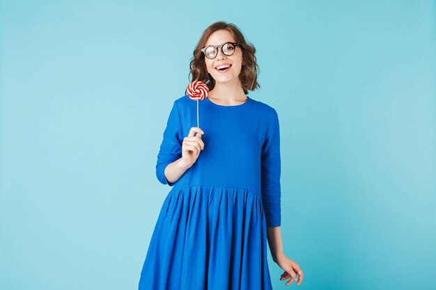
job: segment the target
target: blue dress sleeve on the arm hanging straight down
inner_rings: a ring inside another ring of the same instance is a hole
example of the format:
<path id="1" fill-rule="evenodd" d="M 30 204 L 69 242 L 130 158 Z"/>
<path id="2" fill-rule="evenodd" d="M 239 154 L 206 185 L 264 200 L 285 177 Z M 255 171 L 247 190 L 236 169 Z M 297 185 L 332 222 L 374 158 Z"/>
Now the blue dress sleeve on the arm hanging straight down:
<path id="1" fill-rule="evenodd" d="M 279 227 L 281 225 L 280 130 L 279 117 L 275 109 L 269 123 L 261 155 L 261 196 L 267 227 Z"/>

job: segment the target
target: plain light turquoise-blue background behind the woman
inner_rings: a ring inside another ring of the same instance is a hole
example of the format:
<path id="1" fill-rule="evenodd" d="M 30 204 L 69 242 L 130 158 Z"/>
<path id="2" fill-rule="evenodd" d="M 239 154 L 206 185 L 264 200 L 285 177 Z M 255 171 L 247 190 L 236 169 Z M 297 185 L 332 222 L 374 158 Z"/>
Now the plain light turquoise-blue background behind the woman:
<path id="1" fill-rule="evenodd" d="M 170 189 L 155 177 L 166 120 L 219 20 L 255 45 L 249 96 L 279 113 L 298 289 L 436 289 L 435 1 L 0 11 L 0 289 L 137 289 Z M 288 289 L 269 261 L 274 289 Z"/>

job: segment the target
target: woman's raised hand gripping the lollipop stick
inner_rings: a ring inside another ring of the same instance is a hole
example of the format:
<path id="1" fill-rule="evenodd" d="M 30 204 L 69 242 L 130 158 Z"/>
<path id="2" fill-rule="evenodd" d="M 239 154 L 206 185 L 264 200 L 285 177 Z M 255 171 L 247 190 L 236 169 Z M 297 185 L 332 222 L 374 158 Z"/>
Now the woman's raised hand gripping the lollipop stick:
<path id="1" fill-rule="evenodd" d="M 196 136 L 194 136 L 195 133 L 197 133 Z M 187 168 L 191 167 L 198 159 L 198 156 L 200 156 L 201 150 L 204 149 L 204 143 L 203 140 L 201 140 L 203 134 L 203 130 L 199 127 L 192 127 L 191 130 L 189 130 L 188 136 L 183 138 L 182 160 L 180 160 L 183 166 Z"/>

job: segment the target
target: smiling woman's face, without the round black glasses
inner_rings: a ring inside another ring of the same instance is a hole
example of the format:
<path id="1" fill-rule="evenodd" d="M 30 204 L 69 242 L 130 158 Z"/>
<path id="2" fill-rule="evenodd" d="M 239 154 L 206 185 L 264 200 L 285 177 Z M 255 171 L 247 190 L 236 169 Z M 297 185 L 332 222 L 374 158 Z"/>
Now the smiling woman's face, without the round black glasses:
<path id="1" fill-rule="evenodd" d="M 218 30 L 210 35 L 205 47 L 208 45 L 223 45 L 226 42 L 235 42 L 235 38 L 230 31 Z M 218 48 L 218 54 L 215 58 L 210 59 L 205 56 L 206 69 L 208 73 L 215 79 L 216 83 L 230 83 L 239 80 L 239 74 L 242 69 L 242 51 L 237 45 L 235 52 L 231 56 L 226 56 L 221 51 L 221 47 Z M 217 67 L 220 65 L 231 65 L 227 70 L 219 71 Z"/>

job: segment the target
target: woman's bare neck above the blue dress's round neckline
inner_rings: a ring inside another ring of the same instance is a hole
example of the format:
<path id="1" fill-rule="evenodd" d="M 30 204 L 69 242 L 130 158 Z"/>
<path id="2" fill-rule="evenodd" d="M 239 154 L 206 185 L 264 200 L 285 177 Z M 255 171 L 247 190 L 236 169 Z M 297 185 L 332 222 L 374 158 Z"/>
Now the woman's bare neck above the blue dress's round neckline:
<path id="1" fill-rule="evenodd" d="M 235 83 L 215 83 L 215 87 L 210 90 L 208 97 L 223 106 L 234 106 L 247 101 L 247 96 L 239 81 Z"/>

